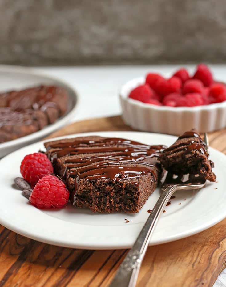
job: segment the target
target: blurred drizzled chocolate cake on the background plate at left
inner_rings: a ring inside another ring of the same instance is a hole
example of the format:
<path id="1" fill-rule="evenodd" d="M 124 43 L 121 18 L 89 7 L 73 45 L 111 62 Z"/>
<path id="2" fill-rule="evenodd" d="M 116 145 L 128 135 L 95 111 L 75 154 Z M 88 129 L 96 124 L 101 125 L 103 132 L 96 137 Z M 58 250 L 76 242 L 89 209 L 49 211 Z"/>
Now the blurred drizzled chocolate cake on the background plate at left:
<path id="1" fill-rule="evenodd" d="M 63 116 L 67 107 L 67 92 L 56 86 L 0 94 L 0 143 L 43 129 Z"/>

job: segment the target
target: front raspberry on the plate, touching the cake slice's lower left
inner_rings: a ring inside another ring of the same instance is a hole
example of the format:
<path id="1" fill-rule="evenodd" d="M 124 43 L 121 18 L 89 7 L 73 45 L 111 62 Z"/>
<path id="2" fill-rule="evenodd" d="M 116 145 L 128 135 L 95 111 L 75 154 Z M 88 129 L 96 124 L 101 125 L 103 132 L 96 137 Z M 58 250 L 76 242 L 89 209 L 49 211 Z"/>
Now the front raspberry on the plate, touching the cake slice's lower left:
<path id="1" fill-rule="evenodd" d="M 63 181 L 54 175 L 45 175 L 38 180 L 30 195 L 30 203 L 38 208 L 61 208 L 68 202 L 69 192 Z"/>

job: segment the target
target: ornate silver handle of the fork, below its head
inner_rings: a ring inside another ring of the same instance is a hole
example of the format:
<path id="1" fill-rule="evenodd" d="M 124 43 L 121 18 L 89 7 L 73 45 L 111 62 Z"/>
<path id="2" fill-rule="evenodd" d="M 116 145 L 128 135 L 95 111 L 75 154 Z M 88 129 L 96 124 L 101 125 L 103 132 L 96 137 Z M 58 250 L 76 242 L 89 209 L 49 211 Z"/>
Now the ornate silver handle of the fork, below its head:
<path id="1" fill-rule="evenodd" d="M 155 229 L 163 208 L 167 204 L 172 194 L 179 189 L 176 185 L 168 186 L 159 196 L 151 214 L 147 218 L 140 234 L 133 247 L 124 258 L 119 269 L 108 287 L 135 287 L 140 265 L 146 253 L 151 235 Z"/>

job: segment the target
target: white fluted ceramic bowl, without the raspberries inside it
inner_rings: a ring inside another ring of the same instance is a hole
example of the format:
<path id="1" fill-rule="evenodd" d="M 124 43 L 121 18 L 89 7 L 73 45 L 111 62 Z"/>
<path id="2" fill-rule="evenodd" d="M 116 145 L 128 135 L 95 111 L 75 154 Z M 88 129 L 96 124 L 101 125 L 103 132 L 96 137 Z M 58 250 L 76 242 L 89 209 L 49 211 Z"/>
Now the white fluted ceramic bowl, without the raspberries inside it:
<path id="1" fill-rule="evenodd" d="M 168 107 L 128 98 L 129 93 L 144 82 L 144 77 L 135 78 L 119 91 L 123 120 L 132 128 L 179 135 L 192 128 L 202 133 L 226 127 L 226 101 L 197 107 Z"/>

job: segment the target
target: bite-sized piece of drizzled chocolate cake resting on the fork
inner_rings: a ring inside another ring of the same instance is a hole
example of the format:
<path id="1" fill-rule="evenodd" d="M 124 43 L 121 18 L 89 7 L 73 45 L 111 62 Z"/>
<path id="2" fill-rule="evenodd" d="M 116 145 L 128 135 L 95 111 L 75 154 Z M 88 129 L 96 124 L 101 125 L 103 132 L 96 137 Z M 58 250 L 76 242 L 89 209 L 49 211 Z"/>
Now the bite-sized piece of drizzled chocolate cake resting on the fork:
<path id="1" fill-rule="evenodd" d="M 191 130 L 165 149 L 159 161 L 167 171 L 175 175 L 199 174 L 209 181 L 215 181 L 216 175 L 212 172 L 214 163 L 208 157 L 206 144 L 195 130 Z"/>

